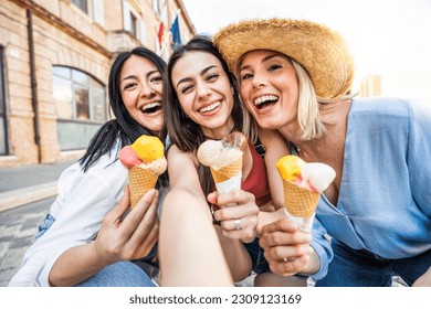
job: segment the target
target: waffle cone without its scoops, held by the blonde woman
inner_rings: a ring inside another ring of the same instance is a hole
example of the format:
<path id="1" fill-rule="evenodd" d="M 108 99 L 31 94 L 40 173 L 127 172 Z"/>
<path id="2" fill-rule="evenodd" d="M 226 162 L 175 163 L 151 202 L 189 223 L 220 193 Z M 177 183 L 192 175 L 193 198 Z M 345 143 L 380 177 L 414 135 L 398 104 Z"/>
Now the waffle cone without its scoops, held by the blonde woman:
<path id="1" fill-rule="evenodd" d="M 283 179 L 284 206 L 286 211 L 297 217 L 311 217 L 317 207 L 320 193 L 311 192 Z"/>

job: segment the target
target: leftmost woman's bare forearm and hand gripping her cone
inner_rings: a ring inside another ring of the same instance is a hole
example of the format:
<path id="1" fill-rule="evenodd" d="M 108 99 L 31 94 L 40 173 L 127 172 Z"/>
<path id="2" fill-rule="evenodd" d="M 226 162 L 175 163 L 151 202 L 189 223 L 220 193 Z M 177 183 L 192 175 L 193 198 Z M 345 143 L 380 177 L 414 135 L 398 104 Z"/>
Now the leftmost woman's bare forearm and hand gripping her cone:
<path id="1" fill-rule="evenodd" d="M 104 217 L 96 239 L 65 251 L 53 265 L 51 286 L 74 286 L 104 267 L 118 262 L 148 255 L 158 239 L 158 192 L 147 192 L 130 213 L 128 190 Z"/>

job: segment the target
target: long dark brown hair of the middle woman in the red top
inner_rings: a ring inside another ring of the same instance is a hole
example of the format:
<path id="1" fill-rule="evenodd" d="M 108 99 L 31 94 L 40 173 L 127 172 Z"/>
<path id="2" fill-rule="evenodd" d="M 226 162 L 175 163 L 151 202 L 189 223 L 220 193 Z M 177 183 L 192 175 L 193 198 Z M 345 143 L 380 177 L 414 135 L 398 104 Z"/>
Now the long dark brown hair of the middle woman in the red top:
<path id="1" fill-rule="evenodd" d="M 172 70 L 185 54 L 189 52 L 203 52 L 216 56 L 229 78 L 229 83 L 233 88 L 233 109 L 232 119 L 234 122 L 233 130 L 242 131 L 250 140 L 256 138 L 255 126 L 249 111 L 242 107 L 238 84 L 234 75 L 229 71 L 228 64 L 224 62 L 219 50 L 213 45 L 210 36 L 196 35 L 186 45 L 179 46 L 170 56 L 166 66 L 164 76 L 164 110 L 165 110 L 165 129 L 162 136 L 169 136 L 171 145 L 176 145 L 183 152 L 193 152 L 206 140 L 201 127 L 191 120 L 181 109 L 176 89 L 172 85 Z M 209 168 L 199 164 L 199 180 L 204 194 L 214 190 L 214 182 Z"/>

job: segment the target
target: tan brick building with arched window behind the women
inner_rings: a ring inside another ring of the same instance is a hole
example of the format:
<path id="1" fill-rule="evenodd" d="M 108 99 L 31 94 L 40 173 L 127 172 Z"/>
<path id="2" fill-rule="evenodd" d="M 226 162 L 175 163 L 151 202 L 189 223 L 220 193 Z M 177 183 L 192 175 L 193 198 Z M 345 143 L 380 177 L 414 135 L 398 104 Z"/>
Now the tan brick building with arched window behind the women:
<path id="1" fill-rule="evenodd" d="M 81 157 L 109 119 L 115 52 L 144 45 L 167 60 L 177 15 L 187 42 L 181 0 L 2 0 L 0 168 Z"/>

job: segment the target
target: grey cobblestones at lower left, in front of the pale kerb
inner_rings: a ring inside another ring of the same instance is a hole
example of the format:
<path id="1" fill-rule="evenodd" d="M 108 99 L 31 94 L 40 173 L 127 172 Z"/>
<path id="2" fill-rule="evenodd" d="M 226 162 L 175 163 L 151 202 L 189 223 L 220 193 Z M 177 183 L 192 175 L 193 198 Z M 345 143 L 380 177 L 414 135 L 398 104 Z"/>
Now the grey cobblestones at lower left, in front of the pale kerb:
<path id="1" fill-rule="evenodd" d="M 54 198 L 0 212 L 0 287 L 7 287 Z"/>

